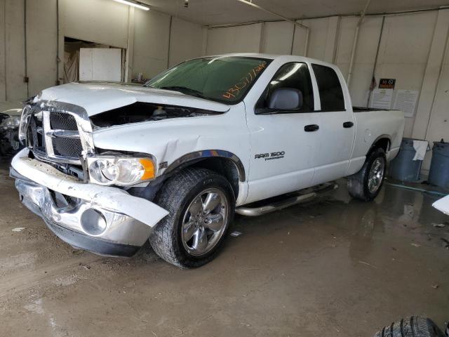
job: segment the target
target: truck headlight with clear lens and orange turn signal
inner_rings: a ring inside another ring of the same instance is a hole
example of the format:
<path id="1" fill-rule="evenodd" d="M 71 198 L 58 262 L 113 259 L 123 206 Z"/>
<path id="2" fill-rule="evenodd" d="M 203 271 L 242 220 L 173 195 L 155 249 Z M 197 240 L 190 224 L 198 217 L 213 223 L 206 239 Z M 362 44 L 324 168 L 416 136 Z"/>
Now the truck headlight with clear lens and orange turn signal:
<path id="1" fill-rule="evenodd" d="M 91 183 L 100 185 L 135 185 L 156 176 L 149 158 L 88 157 L 87 163 Z"/>

